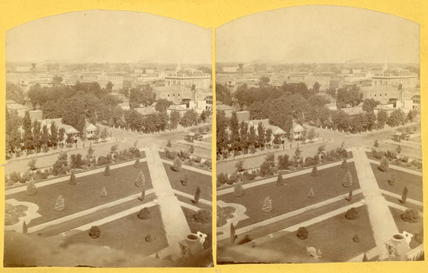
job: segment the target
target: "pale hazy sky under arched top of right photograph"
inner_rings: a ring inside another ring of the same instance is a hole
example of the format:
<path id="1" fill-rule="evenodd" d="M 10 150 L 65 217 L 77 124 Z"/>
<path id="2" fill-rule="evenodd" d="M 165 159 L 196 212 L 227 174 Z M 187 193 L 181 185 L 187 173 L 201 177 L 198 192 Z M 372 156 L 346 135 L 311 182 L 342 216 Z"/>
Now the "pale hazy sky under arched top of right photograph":
<path id="1" fill-rule="evenodd" d="M 261 12 L 216 29 L 216 61 L 419 63 L 419 24 L 337 6 Z"/>

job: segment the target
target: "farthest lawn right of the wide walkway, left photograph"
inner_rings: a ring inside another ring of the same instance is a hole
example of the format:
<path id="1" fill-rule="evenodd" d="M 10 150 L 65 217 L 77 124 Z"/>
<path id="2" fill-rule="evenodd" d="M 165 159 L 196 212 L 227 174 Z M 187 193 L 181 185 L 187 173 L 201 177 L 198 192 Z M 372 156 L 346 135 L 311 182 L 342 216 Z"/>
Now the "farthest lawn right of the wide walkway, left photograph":
<path id="1" fill-rule="evenodd" d="M 211 201 L 212 197 L 212 180 L 210 176 L 204 175 L 200 172 L 192 171 L 189 169 L 182 168 L 181 171 L 173 171 L 171 169 L 172 165 L 168 163 L 163 163 L 165 171 L 167 173 L 171 187 L 175 190 L 179 190 L 191 195 L 195 195 L 196 188 L 200 188 L 200 198 Z M 185 177 L 185 174 L 189 176 L 189 182 L 187 186 L 182 185 L 182 180 Z"/>

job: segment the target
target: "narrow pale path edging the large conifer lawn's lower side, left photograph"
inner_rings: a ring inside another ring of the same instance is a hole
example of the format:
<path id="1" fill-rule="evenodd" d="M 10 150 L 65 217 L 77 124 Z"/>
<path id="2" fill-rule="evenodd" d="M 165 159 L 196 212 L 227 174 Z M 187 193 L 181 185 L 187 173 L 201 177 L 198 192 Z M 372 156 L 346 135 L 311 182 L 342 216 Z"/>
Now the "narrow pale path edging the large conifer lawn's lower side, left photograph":
<path id="1" fill-rule="evenodd" d="M 148 195 L 152 192 L 154 192 L 154 190 L 149 189 L 146 191 L 146 195 Z M 97 206 L 97 207 L 93 207 L 93 208 L 90 208 L 87 210 L 82 210 L 82 211 L 79 211 L 79 212 L 76 212 L 76 213 L 73 213 L 73 214 L 70 214 L 70 215 L 49 221 L 49 222 L 44 222 L 43 224 L 28 228 L 28 233 L 36 232 L 36 231 L 42 230 L 42 229 L 47 228 L 47 227 L 52 226 L 52 225 L 58 225 L 58 224 L 61 224 L 65 221 L 73 220 L 73 219 L 76 219 L 78 217 L 88 215 L 90 213 L 96 212 L 96 211 L 101 210 L 101 209 L 107 209 L 107 208 L 114 207 L 114 206 L 117 206 L 119 204 L 131 201 L 131 200 L 135 200 L 140 195 L 141 195 L 141 193 L 132 194 L 130 196 L 127 196 L 127 197 L 124 197 L 124 198 L 121 198 L 121 199 L 118 199 L 118 200 L 115 200 L 115 201 L 112 201 L 112 202 L 109 202 L 106 204 L 102 204 L 102 205 Z M 27 224 L 28 224 L 28 222 L 27 222 Z"/>

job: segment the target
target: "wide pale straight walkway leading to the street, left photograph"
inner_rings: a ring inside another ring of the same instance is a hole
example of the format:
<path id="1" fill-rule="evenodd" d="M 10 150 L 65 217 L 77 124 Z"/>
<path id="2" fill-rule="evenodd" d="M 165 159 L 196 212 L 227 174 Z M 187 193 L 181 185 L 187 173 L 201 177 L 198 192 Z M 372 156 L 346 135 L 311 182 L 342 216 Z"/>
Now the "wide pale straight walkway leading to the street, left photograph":
<path id="1" fill-rule="evenodd" d="M 178 242 L 184 240 L 191 233 L 189 224 L 181 208 L 181 203 L 175 196 L 175 192 L 168 180 L 159 153 L 155 150 L 147 149 L 146 158 L 150 177 L 153 181 L 153 189 L 156 193 L 157 201 L 159 201 L 166 237 L 171 250 L 171 258 L 176 260 L 181 257 Z"/>

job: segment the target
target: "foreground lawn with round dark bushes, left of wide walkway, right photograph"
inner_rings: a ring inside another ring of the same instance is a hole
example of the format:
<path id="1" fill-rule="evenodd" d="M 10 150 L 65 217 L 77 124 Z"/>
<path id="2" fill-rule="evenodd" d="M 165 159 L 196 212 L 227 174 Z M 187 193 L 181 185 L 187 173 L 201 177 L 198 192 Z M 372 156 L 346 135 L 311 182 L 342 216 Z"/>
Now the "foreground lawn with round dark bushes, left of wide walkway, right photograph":
<path id="1" fill-rule="evenodd" d="M 346 262 L 376 246 L 367 206 L 358 207 L 356 210 L 359 217 L 355 220 L 348 220 L 345 213 L 341 213 L 306 227 L 309 232 L 306 240 L 299 239 L 295 231 L 256 247 L 283 253 L 284 260 L 277 262 L 289 262 L 286 257 L 305 259 L 308 257 L 306 247 L 309 246 L 321 250 L 320 262 Z M 356 234 L 359 242 L 352 240 Z"/>

